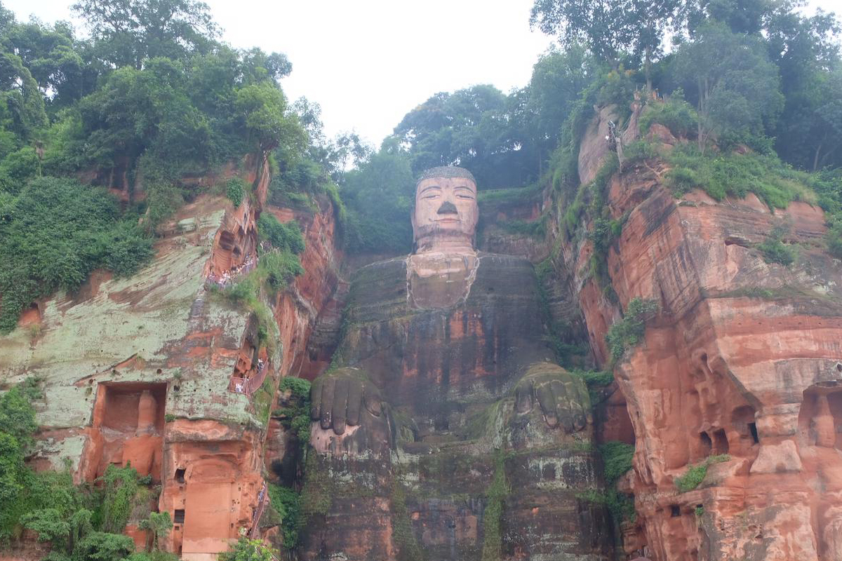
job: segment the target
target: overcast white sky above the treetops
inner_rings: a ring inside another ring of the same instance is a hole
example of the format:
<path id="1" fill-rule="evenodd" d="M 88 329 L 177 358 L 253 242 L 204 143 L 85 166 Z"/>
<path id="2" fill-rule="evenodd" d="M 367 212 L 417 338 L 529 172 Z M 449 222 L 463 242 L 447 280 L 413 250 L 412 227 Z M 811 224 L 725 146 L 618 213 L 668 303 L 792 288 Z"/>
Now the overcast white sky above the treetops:
<path id="1" fill-rule="evenodd" d="M 205 0 L 223 39 L 283 52 L 290 100 L 322 106 L 326 132 L 356 130 L 375 146 L 437 92 L 524 86 L 552 39 L 530 31 L 533 0 Z M 18 19 L 72 20 L 68 0 L 5 0 Z M 842 12 L 842 0 L 811 0 Z"/>

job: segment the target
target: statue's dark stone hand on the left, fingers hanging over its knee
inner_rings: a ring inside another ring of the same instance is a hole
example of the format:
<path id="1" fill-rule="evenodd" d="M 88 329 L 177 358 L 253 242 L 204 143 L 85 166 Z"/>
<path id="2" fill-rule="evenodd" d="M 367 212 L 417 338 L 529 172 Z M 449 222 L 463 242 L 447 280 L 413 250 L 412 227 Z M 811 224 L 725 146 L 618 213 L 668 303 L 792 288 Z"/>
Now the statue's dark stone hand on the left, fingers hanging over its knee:
<path id="1" fill-rule="evenodd" d="M 346 426 L 364 423 L 366 415 L 382 415 L 380 391 L 351 368 L 324 373 L 313 380 L 310 389 L 310 418 L 322 429 L 333 428 L 341 435 Z"/>

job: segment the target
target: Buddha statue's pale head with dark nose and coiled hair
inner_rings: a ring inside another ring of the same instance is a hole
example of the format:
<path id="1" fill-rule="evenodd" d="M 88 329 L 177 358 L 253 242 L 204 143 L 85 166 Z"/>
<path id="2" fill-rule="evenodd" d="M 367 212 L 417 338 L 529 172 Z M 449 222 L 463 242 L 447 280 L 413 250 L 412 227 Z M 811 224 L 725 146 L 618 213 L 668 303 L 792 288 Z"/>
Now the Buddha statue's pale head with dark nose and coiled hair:
<path id="1" fill-rule="evenodd" d="M 463 167 L 434 167 L 415 187 L 413 237 L 418 251 L 473 246 L 477 230 L 477 182 Z"/>

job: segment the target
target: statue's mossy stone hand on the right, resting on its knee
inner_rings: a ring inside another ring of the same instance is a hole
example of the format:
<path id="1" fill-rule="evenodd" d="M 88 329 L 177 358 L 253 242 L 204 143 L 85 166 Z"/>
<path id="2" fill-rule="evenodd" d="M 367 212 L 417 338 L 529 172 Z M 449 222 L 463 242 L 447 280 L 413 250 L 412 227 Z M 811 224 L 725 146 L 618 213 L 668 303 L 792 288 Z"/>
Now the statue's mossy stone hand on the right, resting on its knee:
<path id="1" fill-rule="evenodd" d="M 584 381 L 555 364 L 533 364 L 514 389 L 518 413 L 529 413 L 536 405 L 551 428 L 561 425 L 574 432 L 593 421 Z"/>

